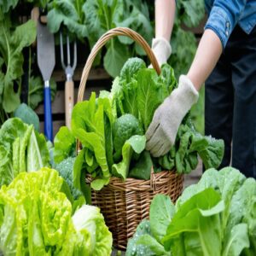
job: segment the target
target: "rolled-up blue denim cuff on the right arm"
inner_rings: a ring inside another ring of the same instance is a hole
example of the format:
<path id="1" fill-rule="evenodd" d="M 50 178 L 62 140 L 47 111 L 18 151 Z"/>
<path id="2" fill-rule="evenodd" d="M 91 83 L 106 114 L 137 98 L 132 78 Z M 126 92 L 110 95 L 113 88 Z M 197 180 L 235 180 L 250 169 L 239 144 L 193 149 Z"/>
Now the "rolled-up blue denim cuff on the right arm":
<path id="1" fill-rule="evenodd" d="M 224 49 L 230 38 L 230 34 L 233 31 L 234 25 L 224 9 L 221 9 L 218 6 L 213 6 L 205 26 L 205 29 L 207 28 L 212 29 L 212 31 L 217 34 Z"/>

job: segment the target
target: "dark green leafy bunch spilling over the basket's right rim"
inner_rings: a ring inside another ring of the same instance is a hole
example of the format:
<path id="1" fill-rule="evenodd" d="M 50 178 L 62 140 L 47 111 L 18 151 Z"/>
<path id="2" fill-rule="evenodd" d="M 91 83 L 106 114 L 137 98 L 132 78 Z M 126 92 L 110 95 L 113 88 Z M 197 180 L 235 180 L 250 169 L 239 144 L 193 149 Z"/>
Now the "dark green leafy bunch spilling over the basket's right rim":
<path id="1" fill-rule="evenodd" d="M 188 118 L 177 131 L 175 145 L 158 161 L 167 170 L 175 167 L 177 173 L 189 173 L 198 165 L 198 155 L 206 169 L 218 168 L 224 156 L 224 141 L 202 136 Z"/>

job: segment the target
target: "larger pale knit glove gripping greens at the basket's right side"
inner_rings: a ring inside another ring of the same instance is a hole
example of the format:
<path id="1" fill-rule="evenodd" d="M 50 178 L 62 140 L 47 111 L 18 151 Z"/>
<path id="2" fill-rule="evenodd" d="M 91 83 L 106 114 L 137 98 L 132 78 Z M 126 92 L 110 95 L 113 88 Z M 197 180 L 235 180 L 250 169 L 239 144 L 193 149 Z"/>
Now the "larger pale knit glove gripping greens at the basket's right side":
<path id="1" fill-rule="evenodd" d="M 177 89 L 154 112 L 146 132 L 146 149 L 154 157 L 166 154 L 175 143 L 178 126 L 198 100 L 198 91 L 185 75 L 179 78 Z"/>

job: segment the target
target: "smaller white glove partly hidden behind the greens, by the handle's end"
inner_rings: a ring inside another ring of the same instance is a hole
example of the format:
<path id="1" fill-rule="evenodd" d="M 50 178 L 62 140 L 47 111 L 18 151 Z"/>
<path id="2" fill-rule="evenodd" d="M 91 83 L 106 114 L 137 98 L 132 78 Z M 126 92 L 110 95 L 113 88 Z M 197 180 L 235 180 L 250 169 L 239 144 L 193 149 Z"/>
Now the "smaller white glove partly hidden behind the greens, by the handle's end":
<path id="1" fill-rule="evenodd" d="M 160 67 L 167 62 L 172 53 L 171 44 L 165 38 L 153 38 L 151 49 Z"/>

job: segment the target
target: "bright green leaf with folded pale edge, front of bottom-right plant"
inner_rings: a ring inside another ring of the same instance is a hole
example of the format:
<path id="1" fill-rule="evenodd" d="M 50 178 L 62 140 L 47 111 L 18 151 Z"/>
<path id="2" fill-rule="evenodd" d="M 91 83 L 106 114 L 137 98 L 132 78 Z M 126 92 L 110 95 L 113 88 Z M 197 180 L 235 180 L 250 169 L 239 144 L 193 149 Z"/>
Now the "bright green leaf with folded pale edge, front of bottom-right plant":
<path id="1" fill-rule="evenodd" d="M 219 255 L 223 211 L 224 201 L 212 188 L 192 196 L 173 216 L 163 238 L 165 248 L 174 255 Z"/>

